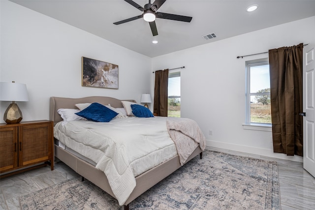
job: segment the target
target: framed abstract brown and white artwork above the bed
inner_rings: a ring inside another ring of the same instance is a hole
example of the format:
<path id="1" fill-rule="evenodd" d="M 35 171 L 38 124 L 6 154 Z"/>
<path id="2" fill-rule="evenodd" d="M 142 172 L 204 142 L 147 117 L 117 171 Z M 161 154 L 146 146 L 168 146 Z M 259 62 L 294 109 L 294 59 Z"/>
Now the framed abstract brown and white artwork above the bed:
<path id="1" fill-rule="evenodd" d="M 118 89 L 118 65 L 82 57 L 82 86 Z"/>

